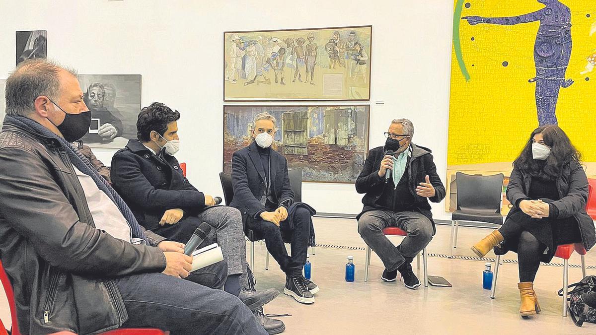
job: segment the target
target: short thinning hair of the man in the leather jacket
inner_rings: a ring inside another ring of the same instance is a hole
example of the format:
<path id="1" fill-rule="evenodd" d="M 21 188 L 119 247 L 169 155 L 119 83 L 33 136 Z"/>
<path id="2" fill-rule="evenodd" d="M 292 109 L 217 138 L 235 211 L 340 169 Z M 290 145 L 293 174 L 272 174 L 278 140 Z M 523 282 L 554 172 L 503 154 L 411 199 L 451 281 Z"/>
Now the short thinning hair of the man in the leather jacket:
<path id="1" fill-rule="evenodd" d="M 6 114 L 28 116 L 35 110 L 35 99 L 41 95 L 57 99 L 60 95 L 58 75 L 61 70 L 77 76 L 76 70 L 64 68 L 44 58 L 19 64 L 6 80 Z"/>

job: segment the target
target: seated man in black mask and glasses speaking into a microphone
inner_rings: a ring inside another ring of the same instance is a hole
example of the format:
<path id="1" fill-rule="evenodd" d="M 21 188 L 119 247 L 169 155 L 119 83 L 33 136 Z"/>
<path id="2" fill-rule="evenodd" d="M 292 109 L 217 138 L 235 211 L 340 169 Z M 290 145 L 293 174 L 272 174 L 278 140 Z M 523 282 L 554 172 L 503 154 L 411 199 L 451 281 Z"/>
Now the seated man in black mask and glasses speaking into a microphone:
<path id="1" fill-rule="evenodd" d="M 412 290 L 420 281 L 410 263 L 436 231 L 427 198 L 438 203 L 445 197 L 431 151 L 412 143 L 413 135 L 412 122 L 393 120 L 385 133 L 385 146 L 368 152 L 356 179 L 356 191 L 365 193 L 364 209 L 357 217 L 358 232 L 383 260 L 381 279 L 394 281 L 399 271 L 405 286 Z M 387 227 L 399 227 L 408 236 L 395 247 L 383 234 Z"/>

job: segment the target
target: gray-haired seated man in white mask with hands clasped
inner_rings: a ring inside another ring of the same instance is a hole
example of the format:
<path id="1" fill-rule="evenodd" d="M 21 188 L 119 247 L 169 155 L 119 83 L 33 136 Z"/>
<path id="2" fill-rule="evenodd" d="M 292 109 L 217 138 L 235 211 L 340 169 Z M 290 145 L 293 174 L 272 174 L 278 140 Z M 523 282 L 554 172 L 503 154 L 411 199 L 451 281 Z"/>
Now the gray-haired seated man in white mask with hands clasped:
<path id="1" fill-rule="evenodd" d="M 315 212 L 307 204 L 292 204 L 287 160 L 271 149 L 275 117 L 260 113 L 253 125 L 252 144 L 232 155 L 234 199 L 230 206 L 240 209 L 247 226 L 265 237 L 267 250 L 285 272 L 284 294 L 313 303 L 319 287 L 304 278 L 302 268 L 309 245 L 315 244 L 311 219 Z M 291 243 L 291 256 L 284 240 Z"/>

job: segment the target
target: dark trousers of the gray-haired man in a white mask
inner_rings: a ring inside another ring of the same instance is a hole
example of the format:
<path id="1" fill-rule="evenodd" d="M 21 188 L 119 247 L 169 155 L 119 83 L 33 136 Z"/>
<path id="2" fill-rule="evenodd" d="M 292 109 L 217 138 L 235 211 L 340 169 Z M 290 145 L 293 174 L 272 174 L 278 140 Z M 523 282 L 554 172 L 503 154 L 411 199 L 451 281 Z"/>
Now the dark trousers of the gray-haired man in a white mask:
<path id="1" fill-rule="evenodd" d="M 264 221 L 261 218 L 249 218 L 246 224 L 250 229 L 265 237 L 267 250 L 280 265 L 281 271 L 284 271 L 288 277 L 292 277 L 302 274 L 302 267 L 306 263 L 308 239 L 311 236 L 311 212 L 305 208 L 298 208 L 294 211 L 292 217 L 293 231 L 288 229 L 287 221 L 286 219 L 280 222 L 280 227 L 277 227 L 272 222 Z M 291 256 L 288 256 L 288 252 L 285 250 L 282 233 L 291 235 Z"/>

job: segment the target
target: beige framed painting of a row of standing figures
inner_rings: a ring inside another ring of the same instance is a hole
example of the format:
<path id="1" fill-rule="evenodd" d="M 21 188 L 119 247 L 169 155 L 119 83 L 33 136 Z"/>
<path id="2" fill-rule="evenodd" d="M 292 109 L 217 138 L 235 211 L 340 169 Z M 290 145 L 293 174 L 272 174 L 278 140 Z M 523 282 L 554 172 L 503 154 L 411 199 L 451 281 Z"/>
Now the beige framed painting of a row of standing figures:
<path id="1" fill-rule="evenodd" d="M 224 101 L 370 100 L 373 26 L 224 32 Z"/>

